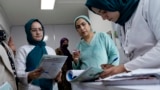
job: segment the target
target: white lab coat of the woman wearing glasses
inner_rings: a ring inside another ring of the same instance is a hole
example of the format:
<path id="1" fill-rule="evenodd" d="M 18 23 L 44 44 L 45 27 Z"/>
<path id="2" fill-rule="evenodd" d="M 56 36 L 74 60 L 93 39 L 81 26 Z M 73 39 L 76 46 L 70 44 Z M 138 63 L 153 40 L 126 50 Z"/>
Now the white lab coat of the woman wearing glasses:
<path id="1" fill-rule="evenodd" d="M 29 72 L 25 72 L 25 70 L 26 70 L 26 57 L 27 57 L 28 53 L 34 47 L 35 47 L 34 45 L 24 45 L 24 46 L 20 47 L 16 53 L 16 59 L 15 59 L 16 63 L 15 64 L 16 64 L 17 75 L 20 80 L 19 90 L 41 90 L 40 87 L 34 86 L 34 85 L 28 83 L 27 80 L 28 80 L 28 73 Z M 46 46 L 46 50 L 49 55 L 56 55 L 55 51 L 51 47 Z M 53 82 L 53 86 L 56 86 L 55 84 L 56 83 Z M 55 87 L 53 87 L 53 88 L 55 88 Z"/>

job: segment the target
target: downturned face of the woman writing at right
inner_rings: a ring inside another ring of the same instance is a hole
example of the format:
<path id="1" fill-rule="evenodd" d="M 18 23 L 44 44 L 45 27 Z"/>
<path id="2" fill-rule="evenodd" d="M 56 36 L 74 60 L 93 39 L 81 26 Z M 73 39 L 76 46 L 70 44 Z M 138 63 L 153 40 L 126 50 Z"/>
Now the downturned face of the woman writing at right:
<path id="1" fill-rule="evenodd" d="M 106 11 L 106 10 L 101 10 L 101 9 L 98 9 L 98 8 L 94 8 L 92 7 L 92 10 L 100 15 L 102 17 L 103 20 L 109 20 L 109 21 L 112 21 L 112 22 L 116 22 L 120 16 L 120 13 L 119 11 L 115 11 L 115 12 L 110 12 L 110 11 Z"/>

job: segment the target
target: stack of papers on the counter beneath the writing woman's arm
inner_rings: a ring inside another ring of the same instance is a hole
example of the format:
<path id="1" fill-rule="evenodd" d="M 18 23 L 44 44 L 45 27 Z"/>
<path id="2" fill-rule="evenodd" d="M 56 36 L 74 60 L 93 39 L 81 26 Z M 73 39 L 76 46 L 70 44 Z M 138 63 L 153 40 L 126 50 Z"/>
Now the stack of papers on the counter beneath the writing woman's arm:
<path id="1" fill-rule="evenodd" d="M 137 69 L 128 73 L 116 74 L 100 81 L 108 86 L 160 84 L 160 69 Z"/>

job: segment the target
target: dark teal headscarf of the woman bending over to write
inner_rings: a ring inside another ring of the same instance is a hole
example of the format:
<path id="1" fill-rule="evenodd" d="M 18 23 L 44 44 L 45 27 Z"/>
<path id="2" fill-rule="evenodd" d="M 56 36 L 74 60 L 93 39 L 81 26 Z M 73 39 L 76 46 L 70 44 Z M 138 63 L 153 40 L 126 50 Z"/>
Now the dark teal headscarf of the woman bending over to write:
<path id="1" fill-rule="evenodd" d="M 92 7 L 111 12 L 119 11 L 120 17 L 116 23 L 124 25 L 136 10 L 138 3 L 139 0 L 87 0 L 86 6 L 92 12 Z"/>

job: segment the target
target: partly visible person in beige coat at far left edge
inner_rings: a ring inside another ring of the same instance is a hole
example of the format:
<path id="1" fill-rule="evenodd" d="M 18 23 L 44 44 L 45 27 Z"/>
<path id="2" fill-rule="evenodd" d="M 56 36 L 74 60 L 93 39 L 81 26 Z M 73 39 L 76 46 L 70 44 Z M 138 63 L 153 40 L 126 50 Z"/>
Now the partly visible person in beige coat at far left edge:
<path id="1" fill-rule="evenodd" d="M 5 42 L 6 38 L 5 31 L 0 30 L 0 86 L 8 83 L 11 85 L 13 90 L 17 90 L 17 75 L 15 71 L 14 55 L 10 47 Z"/>

